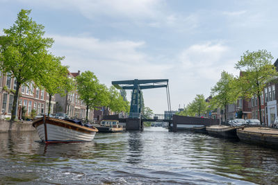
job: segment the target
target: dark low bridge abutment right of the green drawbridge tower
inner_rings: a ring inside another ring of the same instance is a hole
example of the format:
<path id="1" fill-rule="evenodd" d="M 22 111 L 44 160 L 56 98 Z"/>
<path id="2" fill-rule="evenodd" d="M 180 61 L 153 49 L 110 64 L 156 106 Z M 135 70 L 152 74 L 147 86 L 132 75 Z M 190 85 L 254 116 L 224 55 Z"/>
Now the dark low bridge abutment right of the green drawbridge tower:
<path id="1" fill-rule="evenodd" d="M 170 131 L 177 132 L 181 130 L 192 130 L 193 127 L 204 127 L 219 124 L 219 119 L 173 115 L 173 123 L 170 124 Z"/>

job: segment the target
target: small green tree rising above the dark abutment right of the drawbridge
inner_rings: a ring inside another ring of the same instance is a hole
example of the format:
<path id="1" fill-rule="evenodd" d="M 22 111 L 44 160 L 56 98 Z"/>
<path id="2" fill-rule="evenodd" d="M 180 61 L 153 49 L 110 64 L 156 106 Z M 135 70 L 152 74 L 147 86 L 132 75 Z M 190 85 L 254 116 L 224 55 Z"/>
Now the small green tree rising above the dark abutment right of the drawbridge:
<path id="1" fill-rule="evenodd" d="M 206 112 L 206 100 L 204 98 L 203 94 L 197 94 L 195 99 L 192 103 L 189 103 L 188 105 L 188 112 L 190 116 L 194 116 L 193 114 L 197 114 L 198 116 L 201 116 L 201 114 L 204 114 Z"/>

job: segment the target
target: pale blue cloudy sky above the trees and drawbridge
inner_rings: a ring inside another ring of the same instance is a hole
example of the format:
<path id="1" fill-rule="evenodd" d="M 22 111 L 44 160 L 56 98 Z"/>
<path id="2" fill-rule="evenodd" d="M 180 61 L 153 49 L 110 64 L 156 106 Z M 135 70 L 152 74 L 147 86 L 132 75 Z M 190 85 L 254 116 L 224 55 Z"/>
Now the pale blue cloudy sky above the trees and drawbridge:
<path id="1" fill-rule="evenodd" d="M 92 71 L 101 83 L 169 79 L 172 110 L 207 98 L 222 71 L 245 51 L 278 57 L 278 1 L 0 0 L 0 35 L 21 9 L 44 25 L 50 49 L 71 72 Z M 130 92 L 127 91 L 130 95 Z M 167 110 L 166 90 L 143 90 L 145 106 Z M 130 98 L 130 96 L 128 97 Z"/>

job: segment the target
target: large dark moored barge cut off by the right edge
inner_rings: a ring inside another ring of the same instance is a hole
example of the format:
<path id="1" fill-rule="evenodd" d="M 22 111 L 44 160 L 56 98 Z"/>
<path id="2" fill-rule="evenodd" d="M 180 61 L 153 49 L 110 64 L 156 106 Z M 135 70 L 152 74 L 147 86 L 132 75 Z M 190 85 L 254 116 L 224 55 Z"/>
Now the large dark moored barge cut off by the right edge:
<path id="1" fill-rule="evenodd" d="M 237 130 L 240 141 L 278 149 L 278 130 L 269 127 L 244 127 Z"/>

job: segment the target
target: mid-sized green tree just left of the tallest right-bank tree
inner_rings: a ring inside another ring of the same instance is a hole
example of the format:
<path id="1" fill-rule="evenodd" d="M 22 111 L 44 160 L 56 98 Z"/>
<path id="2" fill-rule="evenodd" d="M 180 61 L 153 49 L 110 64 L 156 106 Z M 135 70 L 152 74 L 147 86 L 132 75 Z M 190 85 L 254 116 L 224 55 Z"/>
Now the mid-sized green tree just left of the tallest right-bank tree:
<path id="1" fill-rule="evenodd" d="M 237 90 L 234 86 L 234 76 L 226 71 L 222 71 L 220 80 L 211 88 L 211 95 L 213 98 L 210 104 L 213 107 L 220 107 L 220 109 L 224 108 L 225 121 L 227 119 L 227 105 L 229 103 L 234 103 L 238 97 L 238 94 L 234 94 Z"/>

